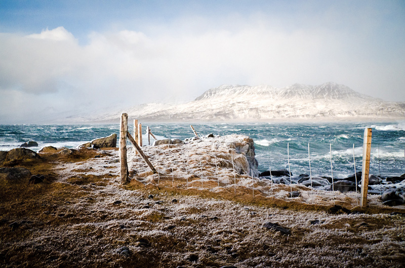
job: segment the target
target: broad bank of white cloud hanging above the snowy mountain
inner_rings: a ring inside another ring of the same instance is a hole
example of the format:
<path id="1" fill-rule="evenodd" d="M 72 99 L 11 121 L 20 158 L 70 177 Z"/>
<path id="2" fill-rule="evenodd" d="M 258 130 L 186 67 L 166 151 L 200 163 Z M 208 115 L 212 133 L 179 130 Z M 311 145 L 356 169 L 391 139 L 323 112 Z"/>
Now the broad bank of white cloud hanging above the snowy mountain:
<path id="1" fill-rule="evenodd" d="M 286 86 L 335 81 L 390 99 L 379 93 L 387 82 L 387 87 L 396 86 L 391 99 L 405 100 L 398 91 L 405 82 L 399 74 L 404 55 L 377 62 L 363 53 L 363 40 L 347 32 L 321 25 L 285 30 L 261 16 L 197 21 L 183 18 L 152 25 L 149 32 L 93 32 L 85 45 L 64 27 L 26 36 L 2 33 L 0 92 L 10 99 L 8 111 L 22 105 L 13 105 L 11 99 L 28 101 L 27 96 L 42 97 L 47 107 L 58 99 L 56 110 L 72 103 L 91 109 L 190 100 L 224 83 Z"/>

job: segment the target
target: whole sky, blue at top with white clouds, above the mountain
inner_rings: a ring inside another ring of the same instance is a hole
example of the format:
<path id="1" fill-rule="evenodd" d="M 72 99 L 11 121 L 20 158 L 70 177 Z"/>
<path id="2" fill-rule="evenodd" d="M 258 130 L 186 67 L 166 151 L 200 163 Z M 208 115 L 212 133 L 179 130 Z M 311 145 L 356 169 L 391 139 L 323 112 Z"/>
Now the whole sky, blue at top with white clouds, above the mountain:
<path id="1" fill-rule="evenodd" d="M 344 84 L 405 101 L 405 1 L 0 0 L 0 123 L 222 84 Z"/>

